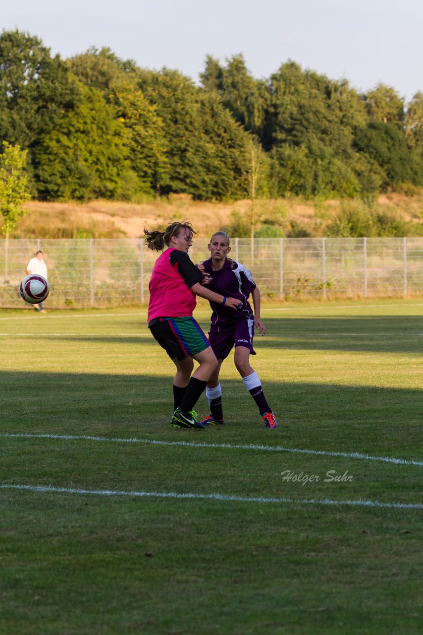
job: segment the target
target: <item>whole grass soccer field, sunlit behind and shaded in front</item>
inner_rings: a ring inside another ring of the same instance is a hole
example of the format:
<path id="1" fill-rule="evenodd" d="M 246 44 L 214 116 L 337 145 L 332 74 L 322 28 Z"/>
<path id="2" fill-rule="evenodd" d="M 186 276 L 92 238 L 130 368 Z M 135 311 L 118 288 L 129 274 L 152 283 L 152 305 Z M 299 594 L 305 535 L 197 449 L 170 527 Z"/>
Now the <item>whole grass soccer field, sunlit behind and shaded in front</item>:
<path id="1" fill-rule="evenodd" d="M 422 632 L 422 309 L 264 305 L 276 431 L 232 359 L 172 429 L 145 308 L 3 311 L 1 635 Z"/>

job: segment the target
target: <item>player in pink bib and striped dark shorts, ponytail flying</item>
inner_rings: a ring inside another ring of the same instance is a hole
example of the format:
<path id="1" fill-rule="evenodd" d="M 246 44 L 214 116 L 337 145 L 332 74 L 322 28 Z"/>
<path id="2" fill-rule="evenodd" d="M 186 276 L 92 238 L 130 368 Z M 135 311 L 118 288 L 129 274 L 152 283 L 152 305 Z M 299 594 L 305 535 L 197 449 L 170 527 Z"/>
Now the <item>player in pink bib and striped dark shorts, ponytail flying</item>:
<path id="1" fill-rule="evenodd" d="M 193 410 L 218 361 L 200 326 L 192 316 L 195 296 L 223 304 L 233 311 L 240 304 L 235 298 L 214 293 L 203 284 L 208 276 L 199 271 L 188 256 L 195 234 L 190 223 L 174 222 L 164 232 L 144 230 L 149 249 L 162 251 L 150 279 L 148 328 L 176 366 L 173 380 L 176 428 L 204 428 Z M 191 376 L 193 359 L 200 364 Z"/>

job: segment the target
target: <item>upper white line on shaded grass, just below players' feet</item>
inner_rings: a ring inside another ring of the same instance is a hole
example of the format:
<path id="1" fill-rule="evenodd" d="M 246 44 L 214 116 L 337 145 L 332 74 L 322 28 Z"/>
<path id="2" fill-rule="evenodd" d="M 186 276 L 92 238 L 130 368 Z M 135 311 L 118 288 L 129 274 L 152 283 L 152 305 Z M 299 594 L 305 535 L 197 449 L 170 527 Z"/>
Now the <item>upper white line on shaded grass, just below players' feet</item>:
<path id="1" fill-rule="evenodd" d="M 295 454 L 310 454 L 320 457 L 359 458 L 367 461 L 382 461 L 395 465 L 419 465 L 423 467 L 423 461 L 407 460 L 405 458 L 374 457 L 360 452 L 330 452 L 327 450 L 299 450 L 297 448 L 284 448 L 280 445 L 231 445 L 230 443 L 195 443 L 194 441 L 157 441 L 155 439 L 119 439 L 98 436 L 85 436 L 73 434 L 30 434 L 26 432 L 1 432 L 0 437 L 22 439 L 56 439 L 63 441 L 100 441 L 109 443 L 144 443 L 148 445 L 184 446 L 186 448 L 211 448 L 222 450 L 258 450 L 263 452 L 290 452 Z"/>

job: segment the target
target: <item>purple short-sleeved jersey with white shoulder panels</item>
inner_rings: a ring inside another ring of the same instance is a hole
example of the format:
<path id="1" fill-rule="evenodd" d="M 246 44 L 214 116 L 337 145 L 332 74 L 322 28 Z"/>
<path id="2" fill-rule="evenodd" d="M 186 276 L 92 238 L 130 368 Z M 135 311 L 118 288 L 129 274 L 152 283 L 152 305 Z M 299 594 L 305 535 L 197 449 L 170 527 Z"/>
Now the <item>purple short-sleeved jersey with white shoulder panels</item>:
<path id="1" fill-rule="evenodd" d="M 215 293 L 221 293 L 228 298 L 238 298 L 242 302 L 242 307 L 234 311 L 224 304 L 211 302 L 212 324 L 221 324 L 242 318 L 253 318 L 251 306 L 248 302 L 249 295 L 256 288 L 256 283 L 252 279 L 251 273 L 240 262 L 226 259 L 225 264 L 219 271 L 214 271 L 211 265 L 211 258 L 203 262 L 204 270 L 210 275 L 210 283 L 207 288 Z"/>

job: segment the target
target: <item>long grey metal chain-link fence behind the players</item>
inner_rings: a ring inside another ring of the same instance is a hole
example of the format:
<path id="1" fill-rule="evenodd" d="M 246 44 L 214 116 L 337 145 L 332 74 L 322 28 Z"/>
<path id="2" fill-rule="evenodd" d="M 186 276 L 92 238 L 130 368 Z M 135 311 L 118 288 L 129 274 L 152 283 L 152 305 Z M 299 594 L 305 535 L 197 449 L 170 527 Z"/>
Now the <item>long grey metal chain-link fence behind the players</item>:
<path id="1" fill-rule="evenodd" d="M 209 257 L 195 239 L 193 262 Z M 0 307 L 22 307 L 18 287 L 41 249 L 49 307 L 106 307 L 148 302 L 157 252 L 142 239 L 0 241 Z M 281 298 L 423 295 L 423 238 L 235 238 L 240 260 L 262 296 Z"/>

